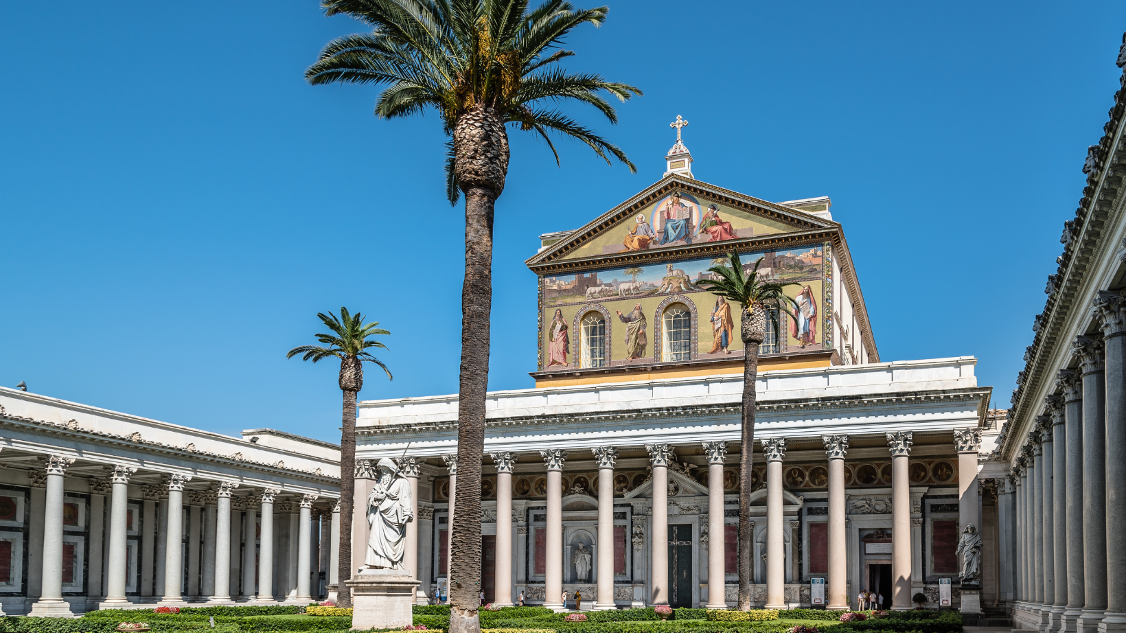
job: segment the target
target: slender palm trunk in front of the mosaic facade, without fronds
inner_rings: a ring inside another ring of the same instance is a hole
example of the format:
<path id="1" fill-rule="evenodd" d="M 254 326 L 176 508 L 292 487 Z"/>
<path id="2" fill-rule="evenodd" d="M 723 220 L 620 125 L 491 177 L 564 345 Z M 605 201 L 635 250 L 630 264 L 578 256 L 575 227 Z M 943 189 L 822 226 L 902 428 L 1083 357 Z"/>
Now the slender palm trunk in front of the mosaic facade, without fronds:
<path id="1" fill-rule="evenodd" d="M 754 389 L 759 374 L 759 345 L 766 338 L 766 311 L 761 304 L 743 306 L 740 335 L 743 339 L 743 419 L 739 447 L 739 610 L 751 609 L 751 475 L 754 455 Z"/>

